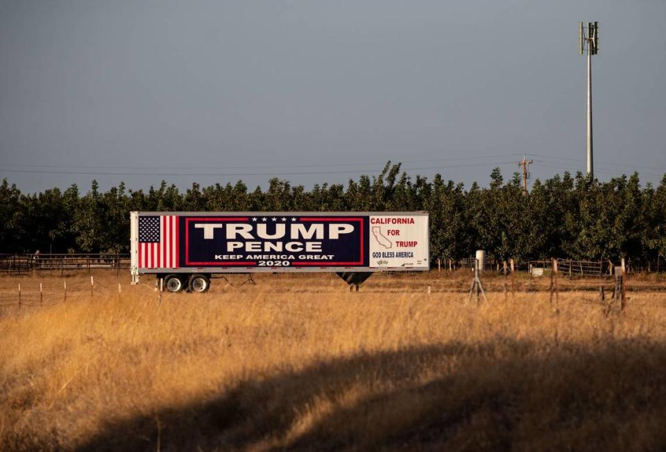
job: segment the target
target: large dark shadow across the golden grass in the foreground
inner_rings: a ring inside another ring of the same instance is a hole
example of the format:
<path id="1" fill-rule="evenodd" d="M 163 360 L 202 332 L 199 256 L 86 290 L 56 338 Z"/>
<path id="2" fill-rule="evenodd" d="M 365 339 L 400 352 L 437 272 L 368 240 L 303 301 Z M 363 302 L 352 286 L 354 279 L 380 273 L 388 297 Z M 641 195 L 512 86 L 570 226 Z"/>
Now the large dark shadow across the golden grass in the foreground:
<path id="1" fill-rule="evenodd" d="M 80 450 L 664 450 L 665 371 L 650 342 L 360 354 L 109 422 Z"/>

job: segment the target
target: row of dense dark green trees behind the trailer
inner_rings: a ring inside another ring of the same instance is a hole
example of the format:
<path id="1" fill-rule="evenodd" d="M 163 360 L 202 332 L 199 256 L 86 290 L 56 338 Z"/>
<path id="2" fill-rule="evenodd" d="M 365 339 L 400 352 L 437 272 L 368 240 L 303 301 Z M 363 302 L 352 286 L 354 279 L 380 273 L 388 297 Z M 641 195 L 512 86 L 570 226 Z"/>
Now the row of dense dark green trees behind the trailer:
<path id="1" fill-rule="evenodd" d="M 613 259 L 636 263 L 666 257 L 666 175 L 659 186 L 640 186 L 637 173 L 599 182 L 582 173 L 541 182 L 524 192 L 518 173 L 504 182 L 495 168 L 490 184 L 411 178 L 388 162 L 376 177 L 311 190 L 273 178 L 266 190 L 246 184 L 167 182 L 148 191 L 125 184 L 82 194 L 21 193 L 0 186 L 0 252 L 128 252 L 130 211 L 412 211 L 430 212 L 432 259 L 459 259 L 483 249 L 497 259 Z"/>

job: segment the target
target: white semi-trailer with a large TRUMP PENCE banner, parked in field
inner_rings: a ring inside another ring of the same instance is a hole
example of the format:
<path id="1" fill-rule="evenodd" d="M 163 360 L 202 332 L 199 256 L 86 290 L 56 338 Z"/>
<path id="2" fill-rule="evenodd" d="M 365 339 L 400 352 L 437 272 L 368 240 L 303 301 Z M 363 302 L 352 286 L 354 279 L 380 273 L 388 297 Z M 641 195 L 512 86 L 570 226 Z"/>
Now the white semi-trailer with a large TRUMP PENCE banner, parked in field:
<path id="1" fill-rule="evenodd" d="M 132 284 L 202 293 L 228 273 L 335 272 L 358 288 L 373 272 L 427 271 L 427 211 L 130 213 Z"/>

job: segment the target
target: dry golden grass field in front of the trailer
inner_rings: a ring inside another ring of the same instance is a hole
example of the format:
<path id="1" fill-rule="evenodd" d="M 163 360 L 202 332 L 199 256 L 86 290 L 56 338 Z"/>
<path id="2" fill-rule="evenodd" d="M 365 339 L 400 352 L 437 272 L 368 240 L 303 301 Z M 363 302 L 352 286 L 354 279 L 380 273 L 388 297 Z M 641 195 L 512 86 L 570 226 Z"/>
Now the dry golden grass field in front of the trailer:
<path id="1" fill-rule="evenodd" d="M 216 279 L 161 303 L 149 278 L 66 279 L 66 300 L 55 276 L 0 279 L 25 300 L 0 307 L 0 450 L 666 449 L 659 277 L 622 313 L 590 281 L 551 302 L 547 278 L 488 277 L 466 304 L 468 272 Z"/>

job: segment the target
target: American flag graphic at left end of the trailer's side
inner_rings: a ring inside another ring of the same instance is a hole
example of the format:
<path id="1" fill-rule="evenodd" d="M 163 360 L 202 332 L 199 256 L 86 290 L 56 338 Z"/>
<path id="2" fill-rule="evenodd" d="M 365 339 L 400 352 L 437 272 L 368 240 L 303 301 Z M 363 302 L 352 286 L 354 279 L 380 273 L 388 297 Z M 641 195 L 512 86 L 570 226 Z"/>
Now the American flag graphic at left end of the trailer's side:
<path id="1" fill-rule="evenodd" d="M 178 266 L 178 216 L 139 216 L 139 267 Z"/>

